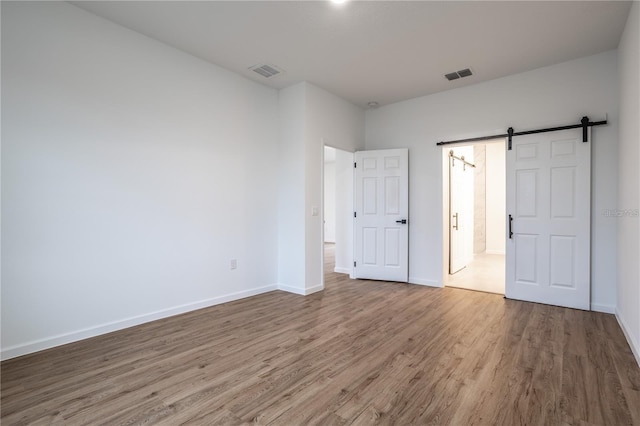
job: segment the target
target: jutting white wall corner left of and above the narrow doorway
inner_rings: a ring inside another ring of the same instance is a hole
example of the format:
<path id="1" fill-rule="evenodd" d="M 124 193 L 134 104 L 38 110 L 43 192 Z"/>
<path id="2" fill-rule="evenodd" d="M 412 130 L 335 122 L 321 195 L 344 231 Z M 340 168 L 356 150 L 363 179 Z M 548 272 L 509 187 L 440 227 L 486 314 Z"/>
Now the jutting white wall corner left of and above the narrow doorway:
<path id="1" fill-rule="evenodd" d="M 291 190 L 280 192 L 281 209 L 290 211 L 286 218 L 284 213 L 280 215 L 279 283 L 284 290 L 310 294 L 324 288 L 323 215 L 313 214 L 323 205 L 322 151 L 325 145 L 346 151 L 363 147 L 364 111 L 304 82 L 281 91 L 280 116 L 284 132 L 281 155 L 286 155 L 281 183 Z M 293 226 L 288 225 L 287 218 Z M 302 228 L 300 223 L 304 224 Z"/>

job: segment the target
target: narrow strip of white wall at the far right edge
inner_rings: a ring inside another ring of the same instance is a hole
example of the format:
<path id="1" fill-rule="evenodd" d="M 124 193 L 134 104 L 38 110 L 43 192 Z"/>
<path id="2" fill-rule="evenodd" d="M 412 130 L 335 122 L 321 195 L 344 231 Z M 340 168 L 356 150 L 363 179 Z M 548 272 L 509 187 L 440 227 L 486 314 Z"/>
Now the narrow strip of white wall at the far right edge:
<path id="1" fill-rule="evenodd" d="M 634 2 L 618 47 L 620 70 L 620 148 L 618 203 L 620 211 L 640 209 L 640 4 Z M 614 169 L 615 170 L 615 169 Z M 618 229 L 617 317 L 640 364 L 640 219 L 613 218 Z"/>

